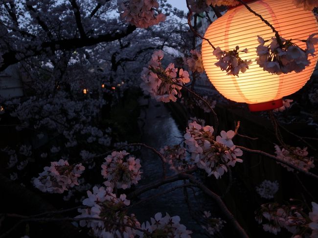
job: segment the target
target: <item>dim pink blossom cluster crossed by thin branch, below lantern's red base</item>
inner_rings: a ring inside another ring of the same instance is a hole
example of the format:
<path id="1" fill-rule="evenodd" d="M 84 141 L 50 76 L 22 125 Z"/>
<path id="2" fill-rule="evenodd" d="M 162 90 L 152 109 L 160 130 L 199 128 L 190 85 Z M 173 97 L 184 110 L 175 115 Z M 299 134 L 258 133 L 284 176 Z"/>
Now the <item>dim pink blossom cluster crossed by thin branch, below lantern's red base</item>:
<path id="1" fill-rule="evenodd" d="M 304 171 L 309 171 L 314 168 L 314 160 L 312 157 L 307 157 L 308 151 L 307 147 L 300 149 L 299 147 L 291 147 L 289 149 L 280 149 L 278 145 L 275 145 L 275 153 L 277 158 L 282 159 L 292 165 L 297 166 L 299 169 Z M 281 164 L 288 171 L 294 171 L 294 169 L 288 167 L 287 165 Z"/>

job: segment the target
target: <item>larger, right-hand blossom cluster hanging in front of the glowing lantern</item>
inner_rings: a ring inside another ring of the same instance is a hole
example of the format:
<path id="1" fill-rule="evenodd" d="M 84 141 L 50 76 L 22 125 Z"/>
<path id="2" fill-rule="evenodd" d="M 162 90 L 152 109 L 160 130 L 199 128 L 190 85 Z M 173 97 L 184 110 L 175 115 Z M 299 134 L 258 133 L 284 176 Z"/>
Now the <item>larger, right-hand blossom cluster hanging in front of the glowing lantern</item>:
<path id="1" fill-rule="evenodd" d="M 262 37 L 257 36 L 260 45 L 256 47 L 258 56 L 256 62 L 264 71 L 273 74 L 286 74 L 293 71 L 299 73 L 310 64 L 308 56 L 314 56 L 314 45 L 318 43 L 318 38 L 315 38 L 315 35 L 317 33 L 310 35 L 306 41 L 303 41 L 307 45 L 304 50 L 293 43 L 292 40 L 280 38 L 279 43 L 275 37 L 266 46 L 265 43 L 269 42 L 269 40 L 265 41 Z"/>

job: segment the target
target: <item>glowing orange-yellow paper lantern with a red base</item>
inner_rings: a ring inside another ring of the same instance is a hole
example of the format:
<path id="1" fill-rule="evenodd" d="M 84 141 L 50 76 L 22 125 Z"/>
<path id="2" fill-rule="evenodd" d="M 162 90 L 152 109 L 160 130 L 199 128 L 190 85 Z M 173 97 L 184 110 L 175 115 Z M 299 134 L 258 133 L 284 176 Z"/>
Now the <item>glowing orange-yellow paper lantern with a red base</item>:
<path id="1" fill-rule="evenodd" d="M 309 35 L 318 32 L 318 22 L 311 11 L 296 8 L 291 0 L 258 0 L 248 3 L 251 9 L 270 22 L 284 39 L 307 40 Z M 308 56 L 311 64 L 300 73 L 271 74 L 257 65 L 257 35 L 270 40 L 274 33 L 269 26 L 240 5 L 227 11 L 213 22 L 204 37 L 222 50 L 248 48 L 248 53 L 240 53 L 242 60 L 252 60 L 249 69 L 239 77 L 227 75 L 226 71 L 214 64 L 218 61 L 213 55 L 213 48 L 207 41 L 202 43 L 202 60 L 205 72 L 226 98 L 240 103 L 248 103 L 251 111 L 268 110 L 282 106 L 282 97 L 290 95 L 303 87 L 310 79 L 316 63 L 315 57 Z M 305 49 L 306 43 L 293 41 Z M 318 50 L 318 45 L 315 48 Z"/>

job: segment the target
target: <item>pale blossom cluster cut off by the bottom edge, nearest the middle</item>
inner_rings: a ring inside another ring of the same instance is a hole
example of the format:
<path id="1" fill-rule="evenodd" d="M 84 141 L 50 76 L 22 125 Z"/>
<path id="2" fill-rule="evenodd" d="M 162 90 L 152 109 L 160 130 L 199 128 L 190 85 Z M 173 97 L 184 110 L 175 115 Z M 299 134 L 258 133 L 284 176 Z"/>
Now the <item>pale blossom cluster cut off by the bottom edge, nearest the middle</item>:
<path id="1" fill-rule="evenodd" d="M 151 233 L 151 237 L 190 238 L 192 233 L 180 224 L 179 216 L 170 216 L 168 213 L 166 216 L 157 213 L 154 218 L 150 218 L 150 222 L 142 223 L 141 229 Z M 142 231 L 136 231 L 136 235 L 140 238 L 147 237 Z"/>

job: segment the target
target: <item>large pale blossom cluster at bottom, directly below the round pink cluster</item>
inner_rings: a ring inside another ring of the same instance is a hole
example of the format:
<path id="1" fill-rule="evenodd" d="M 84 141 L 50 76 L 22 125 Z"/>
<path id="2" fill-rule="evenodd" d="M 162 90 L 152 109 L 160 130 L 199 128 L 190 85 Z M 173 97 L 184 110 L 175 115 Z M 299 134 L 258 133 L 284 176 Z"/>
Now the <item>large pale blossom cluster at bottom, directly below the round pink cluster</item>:
<path id="1" fill-rule="evenodd" d="M 112 192 L 111 187 L 96 186 L 93 187 L 92 192 L 87 191 L 88 197 L 83 200 L 83 205 L 88 208 L 78 209 L 81 215 L 75 218 L 100 218 L 100 220 L 83 219 L 79 222 L 80 226 L 91 228 L 95 237 L 134 237 L 135 231 L 130 226 L 140 227 L 140 223 L 134 214 L 126 215 L 125 208 L 129 206 L 130 200 L 126 199 L 125 194 L 116 197 Z"/>

